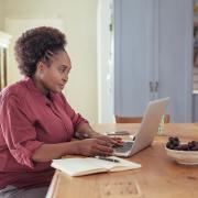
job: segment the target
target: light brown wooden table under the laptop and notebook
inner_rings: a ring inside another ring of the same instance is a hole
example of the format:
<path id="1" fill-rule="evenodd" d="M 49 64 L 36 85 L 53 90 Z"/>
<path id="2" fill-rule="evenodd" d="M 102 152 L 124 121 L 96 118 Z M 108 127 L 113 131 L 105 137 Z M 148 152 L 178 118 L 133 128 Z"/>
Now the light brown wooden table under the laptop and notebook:
<path id="1" fill-rule="evenodd" d="M 99 132 L 130 130 L 139 124 L 103 124 Z M 182 141 L 198 141 L 198 124 L 165 124 L 164 134 L 153 145 L 130 157 L 142 164 L 139 169 L 69 177 L 56 170 L 48 196 L 51 198 L 197 198 L 198 165 L 179 165 L 166 156 L 164 145 L 169 135 Z"/>

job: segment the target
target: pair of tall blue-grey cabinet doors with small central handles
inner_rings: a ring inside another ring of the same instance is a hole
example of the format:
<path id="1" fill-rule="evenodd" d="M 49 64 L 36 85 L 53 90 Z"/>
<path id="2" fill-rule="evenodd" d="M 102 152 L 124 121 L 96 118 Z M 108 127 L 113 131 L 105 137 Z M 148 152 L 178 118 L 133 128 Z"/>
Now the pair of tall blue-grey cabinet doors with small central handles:
<path id="1" fill-rule="evenodd" d="M 116 114 L 170 97 L 170 120 L 191 121 L 191 0 L 114 0 Z"/>

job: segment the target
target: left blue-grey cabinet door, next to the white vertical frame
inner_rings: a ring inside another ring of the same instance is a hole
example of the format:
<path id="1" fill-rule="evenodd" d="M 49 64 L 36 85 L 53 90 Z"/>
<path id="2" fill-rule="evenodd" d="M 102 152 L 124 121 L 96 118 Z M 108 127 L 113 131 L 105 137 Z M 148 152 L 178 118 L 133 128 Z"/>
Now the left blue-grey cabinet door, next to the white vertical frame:
<path id="1" fill-rule="evenodd" d="M 142 116 L 153 99 L 150 8 L 147 0 L 114 0 L 114 113 L 119 116 Z"/>

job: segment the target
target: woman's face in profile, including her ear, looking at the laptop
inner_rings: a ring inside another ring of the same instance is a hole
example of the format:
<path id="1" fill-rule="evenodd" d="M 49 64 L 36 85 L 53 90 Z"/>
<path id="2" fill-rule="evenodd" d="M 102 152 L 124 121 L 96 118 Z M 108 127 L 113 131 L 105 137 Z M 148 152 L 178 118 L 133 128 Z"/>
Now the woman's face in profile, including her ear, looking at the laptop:
<path id="1" fill-rule="evenodd" d="M 61 92 L 68 80 L 68 74 L 72 68 L 68 54 L 61 51 L 51 57 L 50 65 L 41 64 L 38 68 L 40 88 L 44 92 L 47 90 Z"/>

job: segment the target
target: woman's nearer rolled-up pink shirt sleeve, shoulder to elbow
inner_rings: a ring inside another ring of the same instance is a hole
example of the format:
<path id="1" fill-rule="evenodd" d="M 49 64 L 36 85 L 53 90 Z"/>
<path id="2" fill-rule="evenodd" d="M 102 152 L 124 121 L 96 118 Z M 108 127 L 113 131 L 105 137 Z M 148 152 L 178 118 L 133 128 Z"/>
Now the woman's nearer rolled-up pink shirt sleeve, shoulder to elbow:
<path id="1" fill-rule="evenodd" d="M 43 142 L 36 141 L 35 128 L 16 96 L 1 100 L 0 119 L 2 135 L 11 155 L 18 163 L 34 168 L 32 155 Z"/>

